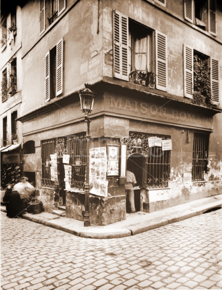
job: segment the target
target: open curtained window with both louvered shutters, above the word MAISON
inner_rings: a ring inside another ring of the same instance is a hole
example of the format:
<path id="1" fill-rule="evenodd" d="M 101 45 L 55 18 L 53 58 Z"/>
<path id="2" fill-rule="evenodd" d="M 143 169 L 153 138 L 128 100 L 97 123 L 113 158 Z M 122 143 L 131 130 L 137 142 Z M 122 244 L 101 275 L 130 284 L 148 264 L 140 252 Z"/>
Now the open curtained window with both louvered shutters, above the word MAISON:
<path id="1" fill-rule="evenodd" d="M 167 91 L 167 36 L 113 11 L 113 76 Z"/>

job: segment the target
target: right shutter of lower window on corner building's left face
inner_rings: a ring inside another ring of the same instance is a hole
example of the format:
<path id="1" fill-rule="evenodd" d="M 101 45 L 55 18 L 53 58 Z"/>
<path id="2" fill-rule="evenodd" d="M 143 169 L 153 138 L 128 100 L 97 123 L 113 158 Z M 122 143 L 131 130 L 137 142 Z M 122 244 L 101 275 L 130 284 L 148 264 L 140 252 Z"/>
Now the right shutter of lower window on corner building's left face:
<path id="1" fill-rule="evenodd" d="M 63 39 L 56 44 L 56 96 L 62 94 L 63 86 Z"/>

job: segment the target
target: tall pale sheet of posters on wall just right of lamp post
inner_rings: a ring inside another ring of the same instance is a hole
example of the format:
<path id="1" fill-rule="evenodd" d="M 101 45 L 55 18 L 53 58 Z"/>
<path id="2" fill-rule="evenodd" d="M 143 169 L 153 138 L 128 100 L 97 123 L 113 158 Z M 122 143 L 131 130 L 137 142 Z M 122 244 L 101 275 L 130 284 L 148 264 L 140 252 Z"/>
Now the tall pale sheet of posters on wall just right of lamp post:
<path id="1" fill-rule="evenodd" d="M 108 196 L 107 148 L 90 149 L 90 193 Z"/>

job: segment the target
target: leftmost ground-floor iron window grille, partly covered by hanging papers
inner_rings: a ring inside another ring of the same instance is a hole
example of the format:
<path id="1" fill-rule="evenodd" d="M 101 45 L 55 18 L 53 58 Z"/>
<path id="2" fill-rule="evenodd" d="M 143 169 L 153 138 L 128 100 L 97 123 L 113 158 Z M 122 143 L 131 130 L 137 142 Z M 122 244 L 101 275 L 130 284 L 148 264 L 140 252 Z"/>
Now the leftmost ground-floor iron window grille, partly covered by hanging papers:
<path id="1" fill-rule="evenodd" d="M 42 185 L 54 187 L 55 183 L 51 181 L 50 175 L 50 154 L 54 154 L 56 149 L 56 139 L 42 141 Z"/>

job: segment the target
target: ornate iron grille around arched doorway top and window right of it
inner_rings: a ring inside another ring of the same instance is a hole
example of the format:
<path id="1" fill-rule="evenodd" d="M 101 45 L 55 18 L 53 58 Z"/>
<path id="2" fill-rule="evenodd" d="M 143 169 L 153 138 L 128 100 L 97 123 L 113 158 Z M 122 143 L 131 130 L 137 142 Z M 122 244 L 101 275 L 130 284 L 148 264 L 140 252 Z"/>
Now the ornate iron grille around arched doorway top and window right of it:
<path id="1" fill-rule="evenodd" d="M 162 151 L 161 147 L 149 147 L 148 138 L 159 137 L 170 139 L 167 135 L 130 132 L 129 139 L 120 139 L 127 144 L 127 156 L 141 154 L 146 158 L 143 164 L 143 188 L 167 188 L 170 176 L 170 150 Z"/>

